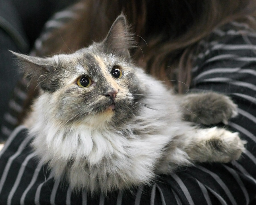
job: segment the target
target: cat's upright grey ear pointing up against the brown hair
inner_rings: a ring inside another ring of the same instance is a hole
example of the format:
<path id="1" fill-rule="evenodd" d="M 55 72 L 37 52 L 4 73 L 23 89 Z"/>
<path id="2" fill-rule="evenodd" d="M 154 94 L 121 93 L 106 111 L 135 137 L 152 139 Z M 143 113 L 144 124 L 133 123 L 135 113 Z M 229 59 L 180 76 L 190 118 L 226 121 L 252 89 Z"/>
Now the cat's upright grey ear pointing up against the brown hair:
<path id="1" fill-rule="evenodd" d="M 111 52 L 130 59 L 129 50 L 134 46 L 134 40 L 123 14 L 116 18 L 103 43 Z"/>

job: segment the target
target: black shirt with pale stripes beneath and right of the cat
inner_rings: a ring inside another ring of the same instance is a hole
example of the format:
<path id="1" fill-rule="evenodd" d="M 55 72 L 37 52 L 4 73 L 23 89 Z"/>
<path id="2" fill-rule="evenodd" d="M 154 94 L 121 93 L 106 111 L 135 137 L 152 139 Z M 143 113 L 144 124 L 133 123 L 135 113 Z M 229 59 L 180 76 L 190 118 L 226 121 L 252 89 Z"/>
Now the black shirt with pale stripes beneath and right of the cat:
<path id="1" fill-rule="evenodd" d="M 197 164 L 161 175 L 152 186 L 91 196 L 55 181 L 19 126 L 0 152 L 0 204 L 256 204 L 256 32 L 237 22 L 214 30 L 200 42 L 194 63 L 190 91 L 224 93 L 238 104 L 239 116 L 225 126 L 247 141 L 238 161 Z"/>

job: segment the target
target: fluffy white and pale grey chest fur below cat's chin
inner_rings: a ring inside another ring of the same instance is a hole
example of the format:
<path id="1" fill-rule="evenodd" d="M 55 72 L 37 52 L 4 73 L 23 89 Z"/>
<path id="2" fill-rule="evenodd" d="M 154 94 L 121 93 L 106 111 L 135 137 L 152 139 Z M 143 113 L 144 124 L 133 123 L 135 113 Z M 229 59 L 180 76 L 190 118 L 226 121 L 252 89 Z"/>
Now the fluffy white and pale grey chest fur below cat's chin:
<path id="1" fill-rule="evenodd" d="M 36 136 L 32 145 L 37 155 L 49 163 L 55 178 L 65 176 L 74 188 L 91 191 L 148 183 L 170 139 L 161 134 L 136 136 L 129 129 L 126 135 L 84 125 L 63 129 L 53 123 L 40 131 L 34 126 L 30 133 Z"/>

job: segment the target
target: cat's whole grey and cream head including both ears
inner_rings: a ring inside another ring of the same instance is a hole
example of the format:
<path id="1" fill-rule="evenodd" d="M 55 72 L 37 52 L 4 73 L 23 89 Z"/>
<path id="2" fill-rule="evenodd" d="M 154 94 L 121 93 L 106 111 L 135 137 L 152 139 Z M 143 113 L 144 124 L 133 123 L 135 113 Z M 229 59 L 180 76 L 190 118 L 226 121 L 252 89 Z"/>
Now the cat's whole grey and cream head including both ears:
<path id="1" fill-rule="evenodd" d="M 129 54 L 131 44 L 121 14 L 102 42 L 73 54 L 47 58 L 14 54 L 25 75 L 47 96 L 42 99 L 48 99 L 48 108 L 42 109 L 53 110 L 57 120 L 113 124 L 133 116 L 138 98 L 145 94 Z"/>

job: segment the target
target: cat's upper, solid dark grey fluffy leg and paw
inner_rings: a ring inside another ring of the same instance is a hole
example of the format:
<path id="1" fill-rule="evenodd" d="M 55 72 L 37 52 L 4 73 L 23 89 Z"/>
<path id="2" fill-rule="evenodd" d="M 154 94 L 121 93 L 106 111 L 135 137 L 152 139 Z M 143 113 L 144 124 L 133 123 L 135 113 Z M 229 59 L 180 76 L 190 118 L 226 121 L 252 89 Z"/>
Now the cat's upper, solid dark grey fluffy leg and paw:
<path id="1" fill-rule="evenodd" d="M 223 122 L 237 115 L 237 106 L 222 94 L 208 92 L 178 96 L 183 119 L 204 125 Z"/>

